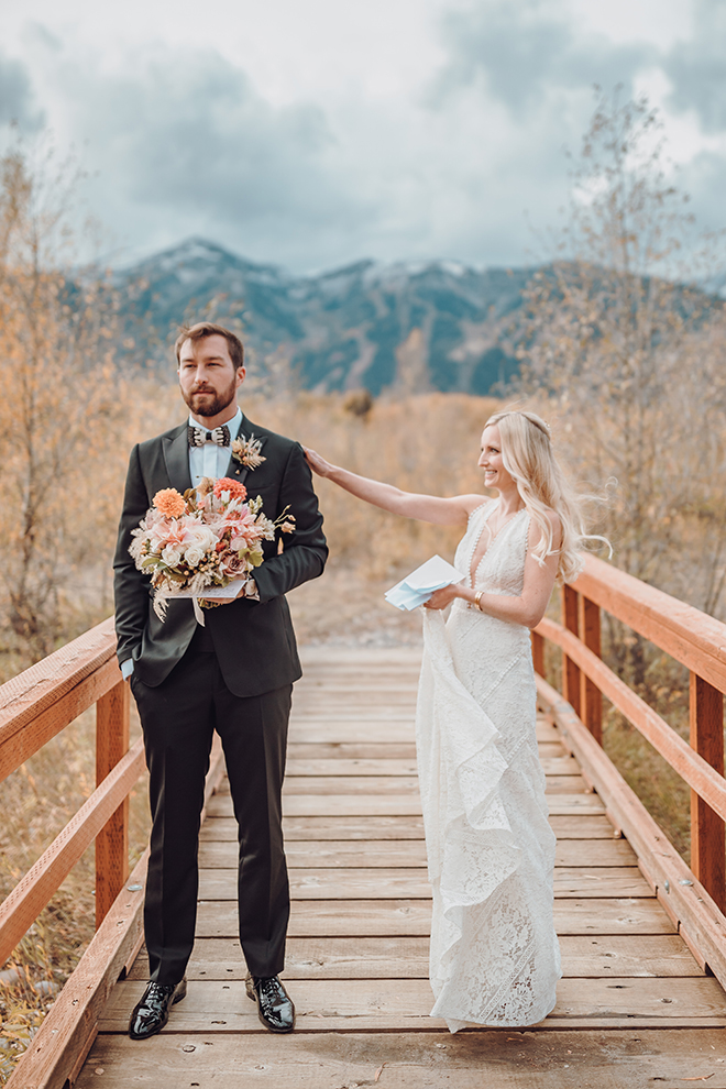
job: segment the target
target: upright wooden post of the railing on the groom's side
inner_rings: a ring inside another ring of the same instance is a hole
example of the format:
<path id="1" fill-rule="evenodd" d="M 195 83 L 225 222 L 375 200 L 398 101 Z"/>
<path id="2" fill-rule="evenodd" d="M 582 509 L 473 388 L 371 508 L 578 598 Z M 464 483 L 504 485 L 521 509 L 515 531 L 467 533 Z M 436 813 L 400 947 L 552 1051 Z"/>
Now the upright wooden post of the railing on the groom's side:
<path id="1" fill-rule="evenodd" d="M 119 681 L 96 704 L 96 785 L 129 751 L 129 685 Z M 129 799 L 96 837 L 96 928 L 129 877 Z"/>

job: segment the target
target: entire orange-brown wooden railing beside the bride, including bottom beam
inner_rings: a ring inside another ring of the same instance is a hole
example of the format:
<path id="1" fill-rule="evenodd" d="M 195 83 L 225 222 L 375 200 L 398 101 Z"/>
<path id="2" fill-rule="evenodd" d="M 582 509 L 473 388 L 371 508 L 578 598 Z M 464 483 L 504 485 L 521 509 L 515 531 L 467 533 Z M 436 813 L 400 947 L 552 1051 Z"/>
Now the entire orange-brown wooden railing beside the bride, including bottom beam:
<path id="1" fill-rule="evenodd" d="M 690 671 L 690 745 L 602 660 L 601 610 Z M 594 557 L 563 587 L 562 622 L 546 618 L 532 632 L 540 703 L 685 941 L 726 986 L 726 625 Z M 544 680 L 546 640 L 562 650 L 561 694 Z M 603 696 L 691 788 L 690 869 L 603 751 Z"/>

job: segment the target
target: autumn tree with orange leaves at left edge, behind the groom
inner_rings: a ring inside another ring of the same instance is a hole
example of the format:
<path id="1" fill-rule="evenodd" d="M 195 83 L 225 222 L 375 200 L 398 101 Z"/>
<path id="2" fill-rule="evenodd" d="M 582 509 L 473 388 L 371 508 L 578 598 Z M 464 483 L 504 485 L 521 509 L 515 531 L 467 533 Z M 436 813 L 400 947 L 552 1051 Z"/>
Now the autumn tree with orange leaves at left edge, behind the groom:
<path id="1" fill-rule="evenodd" d="M 75 264 L 75 179 L 51 167 L 33 167 L 19 147 L 0 160 L 6 673 L 77 634 L 74 617 L 98 596 L 118 502 L 113 444 L 125 426 L 119 299 L 108 277 Z"/>

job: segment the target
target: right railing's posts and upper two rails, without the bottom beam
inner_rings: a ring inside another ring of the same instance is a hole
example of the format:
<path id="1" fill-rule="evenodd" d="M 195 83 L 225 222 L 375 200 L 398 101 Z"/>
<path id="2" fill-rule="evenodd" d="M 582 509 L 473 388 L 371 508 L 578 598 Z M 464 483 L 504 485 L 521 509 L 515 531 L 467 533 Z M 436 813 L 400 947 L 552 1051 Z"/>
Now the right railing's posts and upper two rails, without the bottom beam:
<path id="1" fill-rule="evenodd" d="M 602 661 L 601 609 L 689 670 L 690 745 Z M 598 745 L 605 695 L 691 788 L 691 870 L 723 913 L 726 624 L 587 557 L 576 582 L 562 587 L 562 624 L 546 618 L 532 632 L 535 670 L 540 676 L 546 639 L 563 652 L 562 695 Z"/>

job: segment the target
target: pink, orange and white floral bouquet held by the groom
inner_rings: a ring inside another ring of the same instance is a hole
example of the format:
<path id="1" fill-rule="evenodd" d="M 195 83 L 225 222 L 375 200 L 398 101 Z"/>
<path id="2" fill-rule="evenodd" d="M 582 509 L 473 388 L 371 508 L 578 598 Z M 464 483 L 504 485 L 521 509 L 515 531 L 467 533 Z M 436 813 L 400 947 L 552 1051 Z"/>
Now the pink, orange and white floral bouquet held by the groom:
<path id="1" fill-rule="evenodd" d="M 153 507 L 132 530 L 129 551 L 136 568 L 151 575 L 154 612 L 162 620 L 168 597 L 204 598 L 205 591 L 246 580 L 263 561 L 262 542 L 274 540 L 276 529 L 294 531 L 287 507 L 272 521 L 260 496 L 246 497 L 240 481 L 207 476 L 184 495 L 174 487 L 156 493 Z"/>

